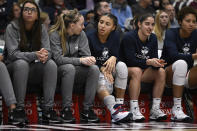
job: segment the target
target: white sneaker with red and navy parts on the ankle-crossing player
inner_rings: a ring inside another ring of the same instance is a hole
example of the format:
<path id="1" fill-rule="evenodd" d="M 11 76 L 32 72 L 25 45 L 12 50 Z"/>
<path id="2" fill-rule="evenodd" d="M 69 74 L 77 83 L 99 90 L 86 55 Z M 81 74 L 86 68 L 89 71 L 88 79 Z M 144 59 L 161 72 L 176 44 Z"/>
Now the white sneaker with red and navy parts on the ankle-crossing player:
<path id="1" fill-rule="evenodd" d="M 112 111 L 112 122 L 129 122 L 132 114 L 129 111 L 123 110 L 121 105 L 116 104 Z"/>

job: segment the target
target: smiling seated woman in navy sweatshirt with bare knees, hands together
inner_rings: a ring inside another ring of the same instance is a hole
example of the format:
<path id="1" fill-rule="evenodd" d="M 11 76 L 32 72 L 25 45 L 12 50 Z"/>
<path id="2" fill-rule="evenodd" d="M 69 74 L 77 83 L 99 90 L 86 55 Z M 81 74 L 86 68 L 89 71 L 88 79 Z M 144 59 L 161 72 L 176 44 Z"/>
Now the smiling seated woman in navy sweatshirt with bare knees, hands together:
<path id="1" fill-rule="evenodd" d="M 165 87 L 165 63 L 158 59 L 157 37 L 152 33 L 154 17 L 143 14 L 137 19 L 137 29 L 125 35 L 121 44 L 121 57 L 128 66 L 130 112 L 134 121 L 143 121 L 138 98 L 141 81 L 153 83 L 153 104 L 150 119 L 163 120 L 167 118 L 160 109 L 161 97 Z"/>

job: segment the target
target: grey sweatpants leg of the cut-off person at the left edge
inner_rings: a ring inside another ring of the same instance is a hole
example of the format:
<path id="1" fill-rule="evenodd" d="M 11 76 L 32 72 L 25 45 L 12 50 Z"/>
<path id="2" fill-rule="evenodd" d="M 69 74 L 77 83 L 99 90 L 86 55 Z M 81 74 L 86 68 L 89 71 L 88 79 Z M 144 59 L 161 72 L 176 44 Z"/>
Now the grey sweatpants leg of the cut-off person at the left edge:
<path id="1" fill-rule="evenodd" d="M 3 62 L 0 61 L 0 92 L 7 106 L 16 104 L 16 98 L 9 73 Z"/>

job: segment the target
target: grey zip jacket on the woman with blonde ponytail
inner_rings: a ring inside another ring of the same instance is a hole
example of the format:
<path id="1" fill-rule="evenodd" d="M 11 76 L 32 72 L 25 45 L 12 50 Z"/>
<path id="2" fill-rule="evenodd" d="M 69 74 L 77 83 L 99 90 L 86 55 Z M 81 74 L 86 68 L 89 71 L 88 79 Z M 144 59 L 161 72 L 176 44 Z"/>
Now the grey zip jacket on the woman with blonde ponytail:
<path id="1" fill-rule="evenodd" d="M 84 31 L 79 35 L 66 39 L 66 52 L 64 55 L 61 47 L 61 38 L 58 32 L 54 31 L 49 36 L 53 58 L 58 66 L 64 64 L 81 65 L 80 57 L 91 55 L 88 39 Z"/>

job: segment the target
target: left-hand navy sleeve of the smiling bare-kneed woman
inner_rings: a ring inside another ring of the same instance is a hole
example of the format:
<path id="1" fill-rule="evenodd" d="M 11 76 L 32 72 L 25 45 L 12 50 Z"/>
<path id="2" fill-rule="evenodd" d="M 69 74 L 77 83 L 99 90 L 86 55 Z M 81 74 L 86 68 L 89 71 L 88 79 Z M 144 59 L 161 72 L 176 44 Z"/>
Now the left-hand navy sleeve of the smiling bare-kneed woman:
<path id="1" fill-rule="evenodd" d="M 136 38 L 127 34 L 121 42 L 122 58 L 128 67 L 147 68 L 145 59 L 137 59 L 136 54 Z"/>

